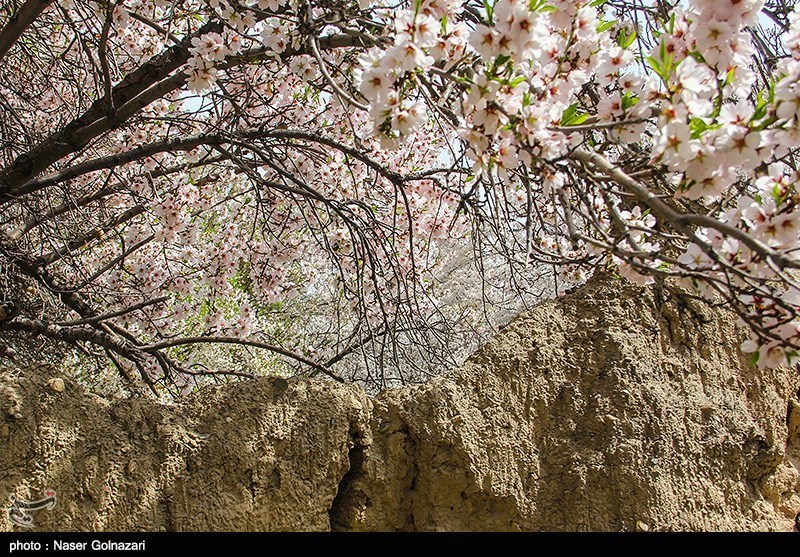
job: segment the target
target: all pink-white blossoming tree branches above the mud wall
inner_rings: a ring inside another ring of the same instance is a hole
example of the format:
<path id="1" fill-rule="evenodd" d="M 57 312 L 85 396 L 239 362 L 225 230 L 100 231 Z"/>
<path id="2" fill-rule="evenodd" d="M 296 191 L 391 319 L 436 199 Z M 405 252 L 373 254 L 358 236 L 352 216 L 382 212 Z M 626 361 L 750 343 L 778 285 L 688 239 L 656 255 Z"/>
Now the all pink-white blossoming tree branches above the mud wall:
<path id="1" fill-rule="evenodd" d="M 248 374 L 203 347 L 340 379 L 417 338 L 459 246 L 558 291 L 677 283 L 754 363 L 797 355 L 787 2 L 2 5 L 0 330 L 131 389 Z M 313 335 L 276 317 L 299 298 L 330 311 Z"/>

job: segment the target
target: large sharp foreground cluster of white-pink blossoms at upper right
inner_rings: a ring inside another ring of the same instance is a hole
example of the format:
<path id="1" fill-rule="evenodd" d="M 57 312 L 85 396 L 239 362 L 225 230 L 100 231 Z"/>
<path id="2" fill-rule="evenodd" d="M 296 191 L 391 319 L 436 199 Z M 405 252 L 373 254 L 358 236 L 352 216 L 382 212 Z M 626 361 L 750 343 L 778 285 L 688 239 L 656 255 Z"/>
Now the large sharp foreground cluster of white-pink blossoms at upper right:
<path id="1" fill-rule="evenodd" d="M 798 175 L 786 164 L 787 155 L 800 147 L 797 13 L 782 37 L 789 56 L 778 63 L 774 81 L 763 83 L 749 31 L 759 23 L 759 0 L 692 0 L 674 8 L 652 50 L 643 53 L 647 72 L 636 65 L 632 46 L 637 30 L 604 19 L 600 4 L 487 3 L 485 21 L 459 31 L 479 60 L 468 73 L 459 73 L 461 51 L 448 57 L 447 49 L 434 48 L 441 42 L 437 32 L 441 36 L 452 25 L 452 14 L 445 25 L 444 17 L 424 9 L 400 11 L 394 44 L 373 48 L 361 60 L 359 90 L 370 102 L 376 133 L 397 140 L 420 125 L 427 107 L 411 104 L 421 87 L 414 76 L 447 73 L 463 90 L 458 133 L 474 161 L 473 172 L 506 181 L 517 192 L 511 197 L 517 203 L 524 202 L 516 172 L 523 167 L 544 177 L 534 184 L 537 195 L 547 198 L 557 190 L 569 197 L 570 184 L 556 161 L 585 147 L 595 133 L 570 133 L 570 126 L 580 127 L 592 116 L 607 125 L 604 138 L 619 145 L 640 145 L 651 136 L 649 164 L 666 171 L 677 202 L 702 203 L 720 225 L 694 228 L 683 253 L 665 258 L 649 209 L 646 214 L 639 207 L 624 209 L 611 192 L 602 199 L 589 192 L 582 202 L 594 213 L 600 238 L 613 235 L 615 227 L 628 230 L 624 248 L 614 248 L 622 251 L 612 251 L 619 273 L 644 284 L 659 273 L 678 274 L 706 295 L 712 295 L 714 284 L 733 280 L 743 292 L 737 303 L 752 308 L 752 321 L 768 331 L 754 335 L 746 349 L 756 354 L 759 365 L 791 359 L 800 347 L 796 283 L 754 246 L 798 261 Z M 599 95 L 587 104 L 582 99 L 589 86 Z M 615 151 L 608 156 L 614 162 Z M 730 203 L 733 191 L 742 193 Z M 581 254 L 601 258 L 606 252 L 601 243 L 576 243 L 563 231 L 559 234 L 555 223 L 559 217 L 566 223 L 566 216 L 558 203 L 543 211 L 553 230 L 541 231 L 538 246 L 567 259 Z M 585 224 L 581 216 L 570 218 Z M 728 227 L 756 242 L 741 241 Z M 566 275 L 581 280 L 585 274 L 578 269 L 564 267 Z M 776 278 L 777 290 L 764 286 Z M 753 279 L 759 286 L 748 295 Z M 761 301 L 751 303 L 754 299 Z"/>

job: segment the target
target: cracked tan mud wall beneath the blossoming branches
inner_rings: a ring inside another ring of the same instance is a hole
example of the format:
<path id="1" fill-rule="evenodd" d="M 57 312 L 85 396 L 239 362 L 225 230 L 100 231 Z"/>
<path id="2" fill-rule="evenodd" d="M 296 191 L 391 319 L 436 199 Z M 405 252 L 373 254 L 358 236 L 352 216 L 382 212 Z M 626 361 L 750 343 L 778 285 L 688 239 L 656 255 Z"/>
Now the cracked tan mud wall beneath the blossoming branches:
<path id="1" fill-rule="evenodd" d="M 39 530 L 791 530 L 800 373 L 690 314 L 598 278 L 374 398 L 263 379 L 162 406 L 5 370 L 0 501 L 55 489 Z"/>

